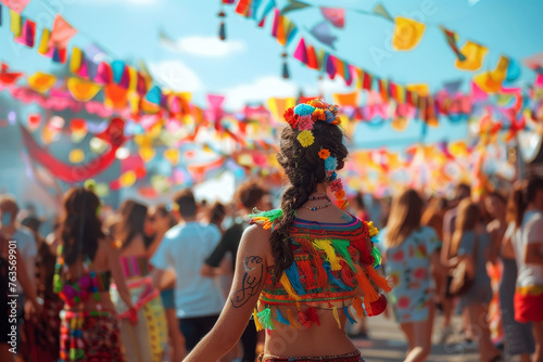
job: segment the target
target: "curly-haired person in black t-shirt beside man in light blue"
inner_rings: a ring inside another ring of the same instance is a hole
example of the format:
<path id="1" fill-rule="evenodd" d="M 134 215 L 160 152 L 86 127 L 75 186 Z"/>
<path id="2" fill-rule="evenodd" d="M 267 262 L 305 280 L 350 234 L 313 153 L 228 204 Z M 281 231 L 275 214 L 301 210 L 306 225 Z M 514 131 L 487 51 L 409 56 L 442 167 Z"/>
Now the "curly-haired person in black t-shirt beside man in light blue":
<path id="1" fill-rule="evenodd" d="M 235 199 L 238 202 L 241 212 L 249 215 L 254 208 L 264 209 L 267 197 L 268 191 L 260 182 L 250 180 L 238 188 Z M 232 271 L 236 270 L 236 259 L 241 236 L 248 227 L 249 220 L 245 218 L 242 219 L 241 223 L 235 223 L 224 233 L 215 250 L 205 260 L 202 268 L 203 275 L 216 275 L 217 269 L 219 269 L 220 263 L 228 254 L 231 256 Z M 242 362 L 252 362 L 256 359 L 256 327 L 250 321 L 241 335 L 241 345 L 243 347 Z"/>

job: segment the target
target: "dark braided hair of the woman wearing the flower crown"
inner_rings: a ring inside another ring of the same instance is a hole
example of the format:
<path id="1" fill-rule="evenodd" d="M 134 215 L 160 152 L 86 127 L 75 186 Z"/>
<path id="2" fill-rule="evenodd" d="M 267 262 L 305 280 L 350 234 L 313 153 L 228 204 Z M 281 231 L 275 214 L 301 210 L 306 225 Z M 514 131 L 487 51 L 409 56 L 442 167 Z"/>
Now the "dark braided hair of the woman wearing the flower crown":
<path id="1" fill-rule="evenodd" d="M 316 121 L 312 130 L 315 141 L 307 147 L 303 147 L 298 141 L 299 133 L 299 130 L 290 126 L 285 127 L 277 154 L 277 160 L 285 169 L 290 185 L 281 196 L 283 217 L 275 225 L 270 236 L 276 281 L 294 261 L 289 236 L 295 210 L 307 202 L 310 195 L 317 189 L 317 183 L 327 181 L 325 160 L 319 157 L 319 151 L 323 148 L 330 151 L 330 156 L 338 160 L 338 170 L 343 168 L 343 160 L 349 154 L 343 144 L 343 131 L 337 125 Z"/>

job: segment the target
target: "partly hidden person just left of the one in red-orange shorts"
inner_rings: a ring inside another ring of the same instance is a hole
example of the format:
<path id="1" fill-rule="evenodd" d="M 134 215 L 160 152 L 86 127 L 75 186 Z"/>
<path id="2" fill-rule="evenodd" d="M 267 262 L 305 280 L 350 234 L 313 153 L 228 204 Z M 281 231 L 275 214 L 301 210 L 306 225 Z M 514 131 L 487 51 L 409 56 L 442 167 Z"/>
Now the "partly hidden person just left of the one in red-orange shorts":
<path id="1" fill-rule="evenodd" d="M 501 245 L 500 258 L 503 264 L 503 272 L 498 293 L 505 336 L 505 353 L 510 357 L 520 355 L 521 362 L 530 362 L 530 354 L 535 350 L 531 323 L 515 321 L 514 303 L 518 273 L 517 262 L 515 261 L 515 249 L 521 249 L 519 229 L 522 225 L 522 193 L 525 188 L 523 182 L 515 184 L 507 204 L 508 227 Z"/>

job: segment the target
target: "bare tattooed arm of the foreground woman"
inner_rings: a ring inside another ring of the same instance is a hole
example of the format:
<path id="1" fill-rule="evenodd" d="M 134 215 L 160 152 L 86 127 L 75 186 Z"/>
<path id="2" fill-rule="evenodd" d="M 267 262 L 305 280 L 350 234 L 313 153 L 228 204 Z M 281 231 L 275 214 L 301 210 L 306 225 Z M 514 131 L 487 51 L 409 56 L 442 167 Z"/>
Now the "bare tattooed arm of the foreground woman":
<path id="1" fill-rule="evenodd" d="M 258 300 L 272 263 L 269 231 L 253 225 L 241 237 L 230 295 L 213 329 L 185 362 L 218 361 L 236 346 Z"/>

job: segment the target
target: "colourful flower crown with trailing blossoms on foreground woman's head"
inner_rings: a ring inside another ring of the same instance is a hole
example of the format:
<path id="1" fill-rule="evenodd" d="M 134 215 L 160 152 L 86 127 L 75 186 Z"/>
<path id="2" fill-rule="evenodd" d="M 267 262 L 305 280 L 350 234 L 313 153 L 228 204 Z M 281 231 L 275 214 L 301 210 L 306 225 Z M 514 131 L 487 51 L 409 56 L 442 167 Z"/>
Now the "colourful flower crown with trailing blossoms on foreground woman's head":
<path id="1" fill-rule="evenodd" d="M 298 142 L 302 147 L 308 147 L 315 142 L 313 135 L 313 126 L 317 121 L 324 121 L 331 125 L 340 125 L 341 119 L 338 117 L 338 106 L 326 103 L 323 100 L 314 99 L 307 103 L 301 103 L 294 107 L 288 108 L 283 114 L 285 120 L 298 130 Z M 327 181 L 331 181 L 330 190 L 336 197 L 336 204 L 344 209 L 348 205 L 345 192 L 341 179 L 338 179 L 336 170 L 338 169 L 338 159 L 330 154 L 330 150 L 321 148 L 318 156 L 324 159 Z"/>

